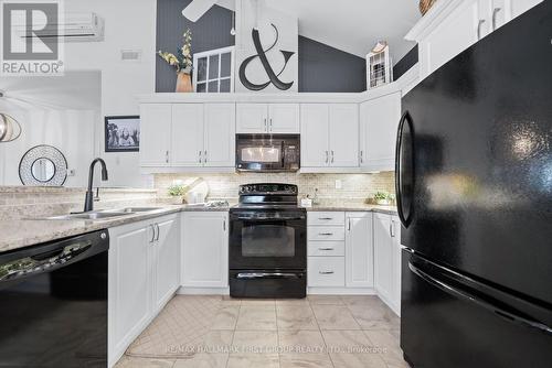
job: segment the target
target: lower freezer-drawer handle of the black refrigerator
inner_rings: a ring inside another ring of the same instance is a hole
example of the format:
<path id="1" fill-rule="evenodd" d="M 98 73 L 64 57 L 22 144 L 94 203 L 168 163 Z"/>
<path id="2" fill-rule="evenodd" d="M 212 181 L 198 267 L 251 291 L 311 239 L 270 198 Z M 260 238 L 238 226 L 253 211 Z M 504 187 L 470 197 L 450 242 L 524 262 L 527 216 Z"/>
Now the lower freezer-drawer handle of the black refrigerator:
<path id="1" fill-rule="evenodd" d="M 450 284 L 447 284 L 444 281 L 440 281 L 440 280 L 429 275 L 428 273 L 422 271 L 416 266 L 412 264 L 412 262 L 408 262 L 408 268 L 414 274 L 420 277 L 425 282 L 434 285 L 437 289 L 440 289 L 442 291 L 444 291 L 453 296 L 456 296 L 456 297 L 463 299 L 465 301 L 475 303 L 475 304 L 479 305 L 480 307 L 484 307 L 484 309 L 495 313 L 496 315 L 498 315 L 499 317 L 501 317 L 503 320 L 514 322 L 514 323 L 524 325 L 524 326 L 530 327 L 530 328 L 535 328 L 535 329 L 539 329 L 545 334 L 552 335 L 552 327 L 546 326 L 545 324 L 543 324 L 541 322 L 528 320 L 524 316 L 521 316 L 521 315 L 516 314 L 513 312 L 508 312 L 499 306 L 492 305 L 491 303 L 489 303 L 485 300 L 481 300 L 480 297 L 478 297 L 478 296 L 476 296 L 467 291 L 459 290 L 458 288 L 455 288 Z"/>

